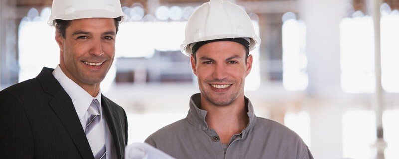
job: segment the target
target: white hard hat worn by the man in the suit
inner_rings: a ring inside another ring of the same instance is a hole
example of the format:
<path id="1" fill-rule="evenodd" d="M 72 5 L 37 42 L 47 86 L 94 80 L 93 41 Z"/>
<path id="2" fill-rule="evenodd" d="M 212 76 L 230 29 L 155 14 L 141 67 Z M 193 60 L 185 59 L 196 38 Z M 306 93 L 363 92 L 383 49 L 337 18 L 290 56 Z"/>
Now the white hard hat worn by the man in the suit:
<path id="1" fill-rule="evenodd" d="M 119 0 L 54 0 L 48 25 L 55 26 L 55 20 L 83 18 L 117 18 L 123 22 L 126 15 Z"/>

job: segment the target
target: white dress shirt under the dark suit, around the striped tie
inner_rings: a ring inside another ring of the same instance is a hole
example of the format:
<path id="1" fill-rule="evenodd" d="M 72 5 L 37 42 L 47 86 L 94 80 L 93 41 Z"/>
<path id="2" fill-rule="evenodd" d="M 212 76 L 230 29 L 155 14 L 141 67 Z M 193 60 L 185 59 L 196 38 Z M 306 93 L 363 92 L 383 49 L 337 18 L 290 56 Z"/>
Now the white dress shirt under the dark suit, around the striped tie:
<path id="1" fill-rule="evenodd" d="M 55 79 L 61 84 L 62 88 L 66 91 L 69 97 L 72 99 L 73 106 L 75 107 L 76 113 L 80 119 L 80 123 L 82 124 L 83 131 L 86 130 L 86 121 L 89 118 L 90 114 L 87 112 L 91 102 L 93 99 L 97 99 L 99 102 L 99 110 L 101 120 L 104 123 L 105 130 L 105 149 L 107 152 L 107 159 L 116 159 L 116 150 L 113 144 L 113 139 L 111 135 L 111 131 L 108 127 L 107 121 L 104 120 L 103 112 L 101 109 L 101 90 L 98 92 L 96 97 L 92 97 L 88 92 L 86 92 L 82 87 L 76 84 L 72 79 L 69 79 L 65 73 L 61 70 L 61 67 L 57 65 L 57 67 L 52 72 Z"/>

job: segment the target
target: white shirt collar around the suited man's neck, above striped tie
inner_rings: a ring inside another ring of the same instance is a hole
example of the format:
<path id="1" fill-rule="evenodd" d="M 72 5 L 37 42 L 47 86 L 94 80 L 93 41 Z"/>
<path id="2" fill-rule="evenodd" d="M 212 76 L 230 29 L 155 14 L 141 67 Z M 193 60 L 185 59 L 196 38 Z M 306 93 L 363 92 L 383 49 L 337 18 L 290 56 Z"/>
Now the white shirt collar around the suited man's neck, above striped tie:
<path id="1" fill-rule="evenodd" d="M 61 70 L 61 67 L 59 65 L 57 65 L 52 74 L 54 75 L 55 79 L 57 79 L 58 82 L 61 84 L 62 88 L 64 88 L 69 97 L 72 99 L 73 106 L 75 107 L 79 119 L 82 119 L 84 117 L 84 114 L 86 113 L 93 99 L 97 99 L 100 103 L 98 109 L 100 110 L 100 116 L 102 118 L 101 90 L 98 92 L 96 97 L 92 97 L 72 79 L 69 79 Z"/>

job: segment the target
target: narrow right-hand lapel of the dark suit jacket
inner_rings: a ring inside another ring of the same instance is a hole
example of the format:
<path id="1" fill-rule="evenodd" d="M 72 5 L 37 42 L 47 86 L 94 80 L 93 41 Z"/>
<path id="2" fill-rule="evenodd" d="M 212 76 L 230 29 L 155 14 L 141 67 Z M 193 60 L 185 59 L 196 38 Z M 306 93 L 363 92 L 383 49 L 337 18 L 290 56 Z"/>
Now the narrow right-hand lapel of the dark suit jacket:
<path id="1" fill-rule="evenodd" d="M 116 154 L 118 159 L 122 159 L 122 152 L 121 152 L 121 146 L 120 146 L 120 141 L 121 141 L 121 137 L 120 134 L 123 133 L 117 133 L 116 130 L 120 130 L 117 129 L 117 121 L 115 119 L 115 117 L 117 116 L 116 112 L 112 109 L 112 107 L 110 106 L 110 103 L 108 102 L 108 100 L 102 95 L 101 96 L 101 106 L 103 109 L 103 113 L 104 113 L 104 118 L 108 123 L 108 127 L 111 131 L 111 135 L 112 135 L 112 139 L 115 145 L 115 150 L 116 150 Z"/>

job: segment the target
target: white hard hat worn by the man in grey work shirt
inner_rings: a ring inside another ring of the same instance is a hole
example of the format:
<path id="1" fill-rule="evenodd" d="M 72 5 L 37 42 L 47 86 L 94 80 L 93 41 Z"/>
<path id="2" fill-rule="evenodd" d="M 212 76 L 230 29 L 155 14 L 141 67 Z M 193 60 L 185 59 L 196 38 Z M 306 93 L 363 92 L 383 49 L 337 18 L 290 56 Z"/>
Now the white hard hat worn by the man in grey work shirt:
<path id="1" fill-rule="evenodd" d="M 190 44 L 226 38 L 249 38 L 250 51 L 260 44 L 260 38 L 244 10 L 229 1 L 210 0 L 197 8 L 187 20 L 185 40 L 180 50 L 190 56 Z"/>

